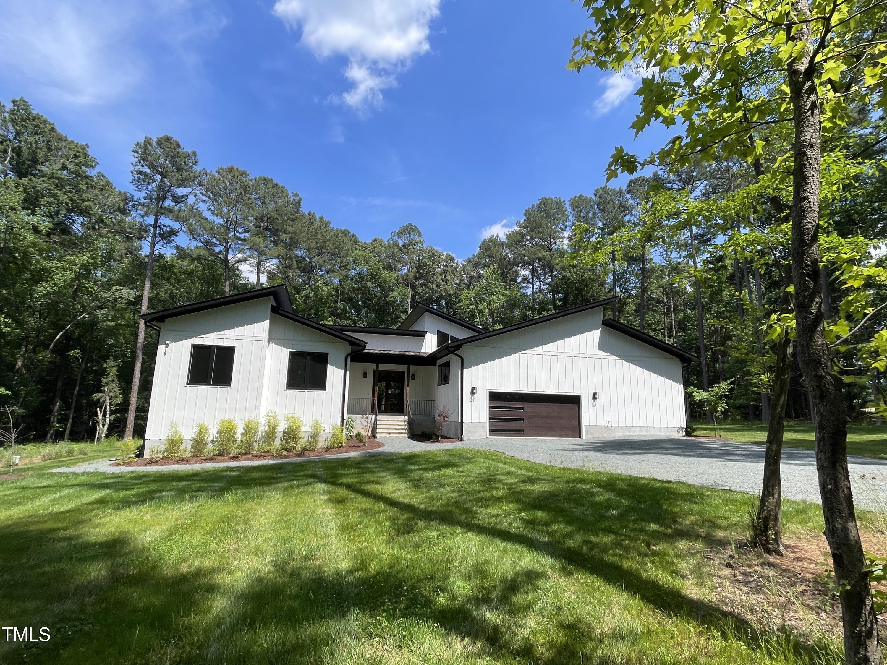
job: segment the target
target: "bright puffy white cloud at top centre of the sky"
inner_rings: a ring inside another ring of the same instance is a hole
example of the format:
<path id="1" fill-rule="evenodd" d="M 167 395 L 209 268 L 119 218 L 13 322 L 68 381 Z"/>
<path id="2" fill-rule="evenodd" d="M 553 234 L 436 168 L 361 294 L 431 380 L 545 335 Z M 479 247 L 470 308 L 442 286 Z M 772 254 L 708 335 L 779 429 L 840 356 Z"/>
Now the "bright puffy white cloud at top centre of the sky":
<path id="1" fill-rule="evenodd" d="M 357 110 L 380 106 L 382 90 L 427 53 L 440 0 L 277 0 L 274 13 L 301 29 L 300 43 L 318 58 L 345 56 L 351 89 L 339 98 Z"/>

